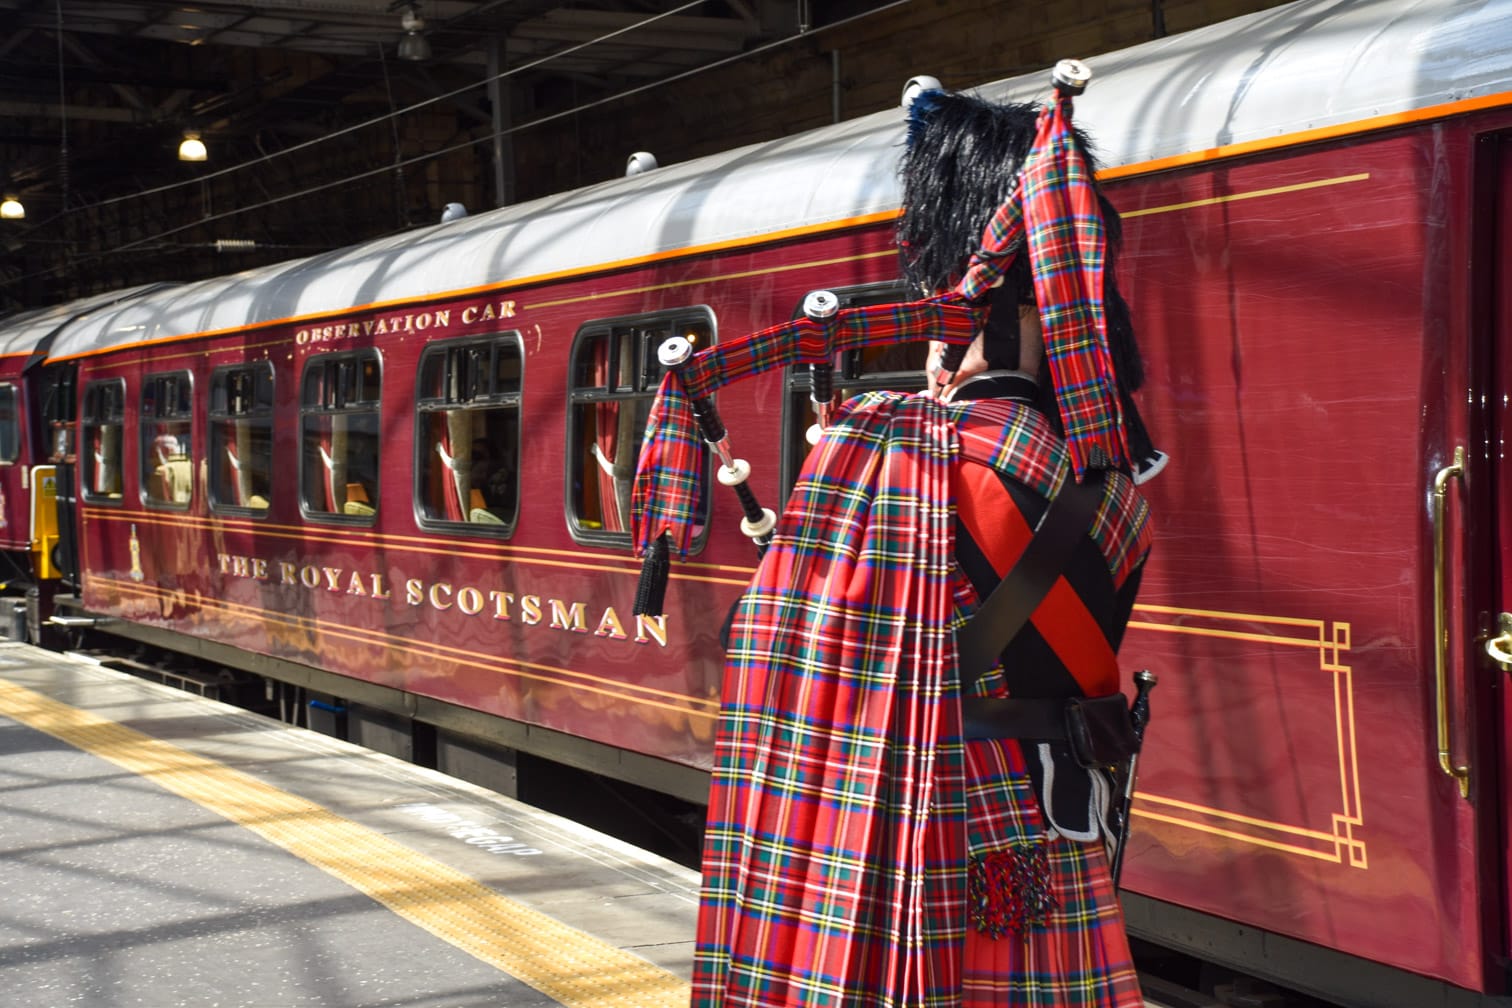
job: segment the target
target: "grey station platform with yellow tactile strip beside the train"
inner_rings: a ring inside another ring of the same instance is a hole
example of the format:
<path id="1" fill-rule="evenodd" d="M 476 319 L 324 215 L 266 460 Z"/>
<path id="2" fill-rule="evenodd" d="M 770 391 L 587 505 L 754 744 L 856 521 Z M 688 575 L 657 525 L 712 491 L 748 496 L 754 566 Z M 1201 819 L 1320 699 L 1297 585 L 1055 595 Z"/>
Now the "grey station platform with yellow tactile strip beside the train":
<path id="1" fill-rule="evenodd" d="M 83 657 L 0 644 L 8 1008 L 685 1008 L 697 873 Z"/>

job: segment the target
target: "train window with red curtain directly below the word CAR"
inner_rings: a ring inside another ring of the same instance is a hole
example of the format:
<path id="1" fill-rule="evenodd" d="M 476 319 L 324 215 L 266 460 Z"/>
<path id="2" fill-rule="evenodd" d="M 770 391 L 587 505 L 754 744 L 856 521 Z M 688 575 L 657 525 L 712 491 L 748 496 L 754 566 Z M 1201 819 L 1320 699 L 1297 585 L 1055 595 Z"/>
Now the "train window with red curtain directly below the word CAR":
<path id="1" fill-rule="evenodd" d="M 416 391 L 420 524 L 508 533 L 520 509 L 520 334 L 434 343 Z"/>

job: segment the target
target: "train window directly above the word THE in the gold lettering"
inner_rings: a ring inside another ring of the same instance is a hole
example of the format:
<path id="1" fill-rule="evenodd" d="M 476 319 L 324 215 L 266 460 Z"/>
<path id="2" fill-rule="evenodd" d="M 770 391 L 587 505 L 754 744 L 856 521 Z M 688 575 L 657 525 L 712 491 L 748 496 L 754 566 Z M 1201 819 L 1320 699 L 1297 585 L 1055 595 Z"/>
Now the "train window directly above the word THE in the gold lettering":
<path id="1" fill-rule="evenodd" d="M 210 375 L 210 508 L 268 514 L 274 473 L 274 366 Z"/>

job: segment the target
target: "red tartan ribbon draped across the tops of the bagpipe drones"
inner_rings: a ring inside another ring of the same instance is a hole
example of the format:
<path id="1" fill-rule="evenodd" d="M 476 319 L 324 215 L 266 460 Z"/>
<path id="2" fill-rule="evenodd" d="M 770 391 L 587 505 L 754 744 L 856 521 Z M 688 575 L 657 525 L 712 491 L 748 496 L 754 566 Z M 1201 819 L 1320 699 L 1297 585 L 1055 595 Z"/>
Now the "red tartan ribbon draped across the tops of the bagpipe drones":
<path id="1" fill-rule="evenodd" d="M 824 363 L 844 349 L 906 339 L 969 343 L 984 319 L 983 295 L 1021 248 L 1030 254 L 1045 355 L 1077 479 L 1099 455 L 1105 464 L 1126 465 L 1102 311 L 1107 239 L 1092 168 L 1072 136 L 1070 98 L 1061 95 L 1040 112 L 1018 184 L 987 222 L 981 249 L 956 290 L 907 304 L 848 308 L 827 326 L 809 319 L 783 322 L 711 346 L 680 373 L 662 379 L 631 503 L 635 555 L 668 533 L 679 556 L 686 556 L 692 540 L 703 449 L 686 396 L 708 397 L 732 381 L 783 364 Z"/>

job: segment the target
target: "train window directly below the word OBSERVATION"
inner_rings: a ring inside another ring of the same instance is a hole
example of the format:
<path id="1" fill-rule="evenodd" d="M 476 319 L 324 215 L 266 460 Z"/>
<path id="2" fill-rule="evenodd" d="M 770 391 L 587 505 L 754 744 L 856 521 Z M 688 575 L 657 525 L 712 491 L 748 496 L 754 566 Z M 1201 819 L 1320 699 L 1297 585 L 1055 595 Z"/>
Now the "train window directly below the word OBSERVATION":
<path id="1" fill-rule="evenodd" d="M 376 351 L 311 357 L 299 391 L 299 506 L 372 523 L 378 514 Z"/>

